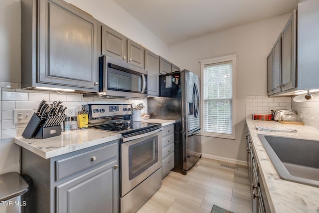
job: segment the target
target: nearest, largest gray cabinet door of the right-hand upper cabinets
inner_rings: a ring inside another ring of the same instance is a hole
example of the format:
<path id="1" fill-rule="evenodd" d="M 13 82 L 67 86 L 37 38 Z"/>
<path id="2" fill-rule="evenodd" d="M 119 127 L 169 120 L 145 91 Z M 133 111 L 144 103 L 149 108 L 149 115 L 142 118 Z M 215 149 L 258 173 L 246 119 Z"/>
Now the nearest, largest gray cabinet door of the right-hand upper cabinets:
<path id="1" fill-rule="evenodd" d="M 282 91 L 296 87 L 296 10 L 282 32 Z"/>

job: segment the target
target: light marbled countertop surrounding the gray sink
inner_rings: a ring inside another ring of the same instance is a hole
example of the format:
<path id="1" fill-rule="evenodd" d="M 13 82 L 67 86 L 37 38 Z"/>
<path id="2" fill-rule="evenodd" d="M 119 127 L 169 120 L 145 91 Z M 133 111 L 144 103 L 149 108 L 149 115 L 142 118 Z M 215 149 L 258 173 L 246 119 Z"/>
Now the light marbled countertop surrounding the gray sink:
<path id="1" fill-rule="evenodd" d="M 252 144 L 255 148 L 255 159 L 266 188 L 266 196 L 272 212 L 276 213 L 319 213 L 319 188 L 280 179 L 271 163 L 258 134 L 284 136 L 300 139 L 318 140 L 319 129 L 306 125 L 281 124 L 275 121 L 257 121 L 246 119 Z M 288 127 L 297 133 L 259 131 L 255 126 Z M 319 141 L 318 141 L 319 142 Z"/>

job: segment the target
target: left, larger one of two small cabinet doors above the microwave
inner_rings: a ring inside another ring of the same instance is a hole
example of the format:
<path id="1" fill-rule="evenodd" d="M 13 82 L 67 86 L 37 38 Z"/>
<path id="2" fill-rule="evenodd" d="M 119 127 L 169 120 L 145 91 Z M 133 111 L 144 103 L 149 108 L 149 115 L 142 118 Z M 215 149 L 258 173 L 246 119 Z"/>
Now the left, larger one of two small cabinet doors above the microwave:
<path id="1" fill-rule="evenodd" d="M 102 55 L 127 62 L 127 37 L 114 29 L 102 25 Z"/>

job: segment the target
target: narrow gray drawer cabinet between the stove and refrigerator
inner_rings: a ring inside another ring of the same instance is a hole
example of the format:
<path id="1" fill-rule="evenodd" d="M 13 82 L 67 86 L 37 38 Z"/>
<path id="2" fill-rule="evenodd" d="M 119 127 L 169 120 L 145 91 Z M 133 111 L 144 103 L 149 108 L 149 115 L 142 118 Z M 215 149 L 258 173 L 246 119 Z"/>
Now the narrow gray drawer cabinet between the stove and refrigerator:
<path id="1" fill-rule="evenodd" d="M 174 124 L 163 127 L 161 131 L 162 145 L 162 178 L 174 167 Z"/>

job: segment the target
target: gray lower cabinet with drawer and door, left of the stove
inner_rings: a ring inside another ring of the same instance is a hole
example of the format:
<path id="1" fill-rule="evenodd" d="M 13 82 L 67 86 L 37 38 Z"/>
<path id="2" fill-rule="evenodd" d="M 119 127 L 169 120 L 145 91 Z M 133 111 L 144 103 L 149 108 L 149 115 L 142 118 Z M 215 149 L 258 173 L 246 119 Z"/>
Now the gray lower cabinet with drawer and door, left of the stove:
<path id="1" fill-rule="evenodd" d="M 33 181 L 26 213 L 118 213 L 118 140 L 51 159 L 22 149 Z"/>

